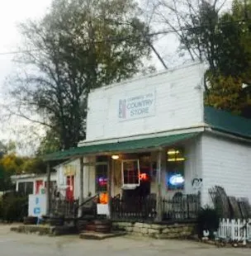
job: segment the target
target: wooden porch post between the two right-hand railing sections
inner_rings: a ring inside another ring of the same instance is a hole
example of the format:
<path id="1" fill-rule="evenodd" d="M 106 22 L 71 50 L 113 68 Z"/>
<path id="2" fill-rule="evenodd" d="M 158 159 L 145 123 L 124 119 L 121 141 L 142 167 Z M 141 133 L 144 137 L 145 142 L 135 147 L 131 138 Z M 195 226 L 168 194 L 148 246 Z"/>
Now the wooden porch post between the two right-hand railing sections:
<path id="1" fill-rule="evenodd" d="M 162 170 L 163 170 L 163 149 L 160 149 L 158 152 L 158 164 L 157 164 L 157 181 L 158 181 L 158 189 L 157 189 L 157 197 L 156 197 L 156 202 L 157 202 L 157 216 L 155 218 L 155 221 L 161 221 L 162 220 L 162 212 L 163 212 L 163 207 L 162 207 Z"/>

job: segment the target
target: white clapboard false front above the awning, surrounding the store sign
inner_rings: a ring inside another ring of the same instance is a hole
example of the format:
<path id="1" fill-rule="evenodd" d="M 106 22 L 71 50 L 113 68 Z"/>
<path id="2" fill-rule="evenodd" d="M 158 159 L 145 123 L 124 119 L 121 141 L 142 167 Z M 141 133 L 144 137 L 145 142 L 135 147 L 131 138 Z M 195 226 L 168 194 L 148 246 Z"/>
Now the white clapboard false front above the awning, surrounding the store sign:
<path id="1" fill-rule="evenodd" d="M 203 67 L 193 64 L 92 91 L 88 97 L 86 141 L 201 126 L 202 77 Z M 155 94 L 154 111 L 150 116 L 130 120 L 119 118 L 120 100 L 130 102 L 133 97 L 150 92 Z"/>

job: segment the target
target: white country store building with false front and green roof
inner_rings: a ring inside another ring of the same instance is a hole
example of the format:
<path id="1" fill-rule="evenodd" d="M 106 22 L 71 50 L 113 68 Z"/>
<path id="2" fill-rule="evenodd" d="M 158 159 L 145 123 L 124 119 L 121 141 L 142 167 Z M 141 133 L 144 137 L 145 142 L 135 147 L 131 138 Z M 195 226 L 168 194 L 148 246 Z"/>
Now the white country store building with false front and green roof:
<path id="1" fill-rule="evenodd" d="M 211 204 L 214 186 L 251 201 L 251 121 L 204 106 L 204 71 L 192 64 L 90 92 L 87 138 L 46 156 L 48 182 L 65 160 L 58 186 L 70 181 L 80 205 L 107 193 L 114 218 L 188 218 Z M 187 198 L 175 216 L 173 197 Z"/>

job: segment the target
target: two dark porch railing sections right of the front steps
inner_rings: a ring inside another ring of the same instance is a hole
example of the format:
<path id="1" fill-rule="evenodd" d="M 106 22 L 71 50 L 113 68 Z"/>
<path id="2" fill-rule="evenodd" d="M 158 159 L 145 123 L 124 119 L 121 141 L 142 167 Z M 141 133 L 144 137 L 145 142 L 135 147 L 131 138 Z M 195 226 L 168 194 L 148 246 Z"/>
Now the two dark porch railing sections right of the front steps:
<path id="1" fill-rule="evenodd" d="M 161 220 L 196 220 L 199 209 L 199 195 L 177 193 L 173 198 L 161 200 Z M 111 199 L 112 220 L 154 221 L 158 216 L 157 211 L 157 199 L 153 195 L 129 200 L 120 196 Z"/>

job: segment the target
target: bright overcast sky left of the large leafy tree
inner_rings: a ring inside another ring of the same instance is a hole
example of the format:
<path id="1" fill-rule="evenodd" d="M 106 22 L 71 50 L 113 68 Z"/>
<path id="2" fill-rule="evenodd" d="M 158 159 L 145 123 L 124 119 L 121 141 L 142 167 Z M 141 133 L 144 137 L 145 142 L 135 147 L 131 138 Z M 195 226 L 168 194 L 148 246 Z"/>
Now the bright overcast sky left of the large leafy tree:
<path id="1" fill-rule="evenodd" d="M 26 19 L 41 17 L 50 7 L 50 2 L 51 0 L 0 0 L 0 102 L 7 100 L 4 81 L 14 70 L 14 55 L 5 53 L 17 50 L 20 45 L 17 24 Z M 0 111 L 2 115 L 2 110 Z M 18 118 L 12 123 L 1 123 L 0 140 L 16 140 L 18 133 L 15 133 L 15 126 L 19 128 L 24 123 Z"/>

